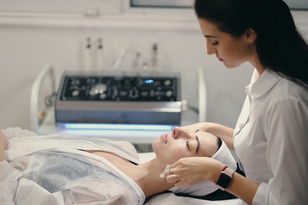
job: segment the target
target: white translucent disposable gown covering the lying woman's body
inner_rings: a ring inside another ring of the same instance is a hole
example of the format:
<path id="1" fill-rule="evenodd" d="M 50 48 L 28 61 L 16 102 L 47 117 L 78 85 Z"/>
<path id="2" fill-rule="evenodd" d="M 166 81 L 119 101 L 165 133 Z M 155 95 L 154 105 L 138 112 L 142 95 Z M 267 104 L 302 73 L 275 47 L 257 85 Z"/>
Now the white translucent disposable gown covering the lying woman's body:
<path id="1" fill-rule="evenodd" d="M 20 128 L 3 134 L 9 143 L 7 161 L 0 163 L 1 205 L 143 205 L 145 201 L 141 188 L 121 170 L 82 151 L 109 151 L 139 163 L 128 142 L 65 134 L 36 136 Z"/>

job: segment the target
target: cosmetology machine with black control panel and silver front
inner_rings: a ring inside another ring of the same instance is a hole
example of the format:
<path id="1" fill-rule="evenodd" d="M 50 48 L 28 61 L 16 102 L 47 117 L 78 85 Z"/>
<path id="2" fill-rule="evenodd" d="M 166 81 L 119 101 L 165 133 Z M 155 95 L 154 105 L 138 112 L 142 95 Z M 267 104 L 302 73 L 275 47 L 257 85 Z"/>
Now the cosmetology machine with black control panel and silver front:
<path id="1" fill-rule="evenodd" d="M 179 74 L 64 72 L 56 126 L 180 125 Z"/>

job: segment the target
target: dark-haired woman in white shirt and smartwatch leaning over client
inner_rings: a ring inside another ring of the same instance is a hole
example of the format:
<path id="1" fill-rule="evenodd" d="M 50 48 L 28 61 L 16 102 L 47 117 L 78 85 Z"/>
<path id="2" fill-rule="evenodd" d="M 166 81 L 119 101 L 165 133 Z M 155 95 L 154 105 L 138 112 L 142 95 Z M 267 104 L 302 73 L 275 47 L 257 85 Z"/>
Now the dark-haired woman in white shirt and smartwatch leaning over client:
<path id="1" fill-rule="evenodd" d="M 206 158 L 183 158 L 167 181 L 201 180 L 252 205 L 308 204 L 308 45 L 282 0 L 195 0 L 207 53 L 227 68 L 255 67 L 236 127 L 196 123 L 234 149 L 246 177 Z M 167 173 L 165 173 L 167 175 Z"/>

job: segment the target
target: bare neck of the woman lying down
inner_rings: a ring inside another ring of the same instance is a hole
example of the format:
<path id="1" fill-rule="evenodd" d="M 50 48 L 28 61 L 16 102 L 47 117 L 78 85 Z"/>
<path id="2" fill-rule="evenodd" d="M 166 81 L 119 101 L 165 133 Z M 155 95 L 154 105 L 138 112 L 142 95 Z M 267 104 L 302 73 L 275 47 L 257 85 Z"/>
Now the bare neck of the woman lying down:
<path id="1" fill-rule="evenodd" d="M 147 163 L 132 167 L 127 174 L 140 186 L 145 196 L 150 197 L 174 186 L 168 183 L 165 178 L 160 177 L 164 169 L 165 167 L 162 167 L 155 158 Z"/>

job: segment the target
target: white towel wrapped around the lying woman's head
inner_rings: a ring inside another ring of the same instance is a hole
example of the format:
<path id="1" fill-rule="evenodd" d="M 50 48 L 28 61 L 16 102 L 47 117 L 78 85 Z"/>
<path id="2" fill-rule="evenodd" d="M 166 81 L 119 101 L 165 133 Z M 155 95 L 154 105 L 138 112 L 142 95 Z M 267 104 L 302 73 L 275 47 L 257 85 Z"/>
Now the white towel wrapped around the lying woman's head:
<path id="1" fill-rule="evenodd" d="M 222 141 L 222 145 L 220 148 L 216 151 L 216 153 L 211 157 L 213 159 L 216 159 L 234 171 L 237 168 L 236 161 L 234 157 L 232 156 L 229 148 L 226 146 L 226 144 Z M 218 189 L 218 187 L 215 185 L 215 183 L 212 183 L 210 181 L 202 181 L 196 185 L 193 186 L 187 186 L 184 188 L 176 188 L 172 187 L 169 189 L 169 191 L 172 191 L 174 193 L 184 193 L 192 196 L 198 196 L 202 197 L 208 194 L 211 194 L 212 192 L 215 192 Z"/>

